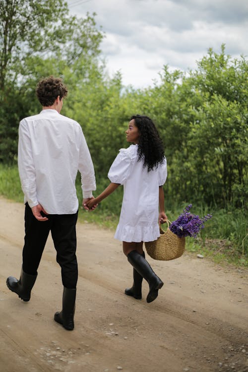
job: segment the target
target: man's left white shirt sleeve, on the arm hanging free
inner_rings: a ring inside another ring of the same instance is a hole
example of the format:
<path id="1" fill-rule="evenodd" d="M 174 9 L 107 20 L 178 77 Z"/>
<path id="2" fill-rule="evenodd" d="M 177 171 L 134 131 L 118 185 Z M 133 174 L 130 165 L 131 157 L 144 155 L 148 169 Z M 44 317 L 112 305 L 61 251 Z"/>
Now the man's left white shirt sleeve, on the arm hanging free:
<path id="1" fill-rule="evenodd" d="M 30 133 L 27 122 L 23 119 L 19 124 L 18 170 L 21 188 L 30 208 L 38 205 L 36 195 L 36 175 Z"/>

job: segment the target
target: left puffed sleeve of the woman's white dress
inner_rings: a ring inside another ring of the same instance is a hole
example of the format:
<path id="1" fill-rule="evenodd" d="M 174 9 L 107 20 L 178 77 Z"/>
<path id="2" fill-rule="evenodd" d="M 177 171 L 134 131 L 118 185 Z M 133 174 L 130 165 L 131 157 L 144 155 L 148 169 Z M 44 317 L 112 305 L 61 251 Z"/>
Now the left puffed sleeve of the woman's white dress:
<path id="1" fill-rule="evenodd" d="M 121 149 L 110 167 L 108 178 L 115 184 L 123 185 L 131 173 L 132 157 L 128 149 Z"/>

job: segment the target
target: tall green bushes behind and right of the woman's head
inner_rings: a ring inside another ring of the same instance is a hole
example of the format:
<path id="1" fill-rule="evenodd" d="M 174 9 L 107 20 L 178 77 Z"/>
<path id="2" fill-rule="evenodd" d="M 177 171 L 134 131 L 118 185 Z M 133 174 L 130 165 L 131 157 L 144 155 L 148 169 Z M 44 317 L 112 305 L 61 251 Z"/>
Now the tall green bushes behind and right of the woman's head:
<path id="1" fill-rule="evenodd" d="M 220 54 L 210 49 L 195 71 L 170 73 L 165 66 L 160 77 L 153 87 L 131 94 L 164 140 L 170 200 L 245 206 L 248 62 L 232 60 L 222 46 Z"/>

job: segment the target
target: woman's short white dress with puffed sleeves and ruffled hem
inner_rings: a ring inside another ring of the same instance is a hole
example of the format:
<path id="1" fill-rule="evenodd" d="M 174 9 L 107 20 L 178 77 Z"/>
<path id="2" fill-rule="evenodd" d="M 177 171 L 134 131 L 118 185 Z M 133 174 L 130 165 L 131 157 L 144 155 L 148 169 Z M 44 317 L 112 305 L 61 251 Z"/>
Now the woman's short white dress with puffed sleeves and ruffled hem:
<path id="1" fill-rule="evenodd" d="M 138 145 L 121 149 L 114 160 L 108 178 L 124 185 L 120 221 L 115 238 L 124 242 L 152 242 L 159 236 L 159 186 L 167 178 L 166 158 L 163 164 L 148 172 L 138 159 Z"/>

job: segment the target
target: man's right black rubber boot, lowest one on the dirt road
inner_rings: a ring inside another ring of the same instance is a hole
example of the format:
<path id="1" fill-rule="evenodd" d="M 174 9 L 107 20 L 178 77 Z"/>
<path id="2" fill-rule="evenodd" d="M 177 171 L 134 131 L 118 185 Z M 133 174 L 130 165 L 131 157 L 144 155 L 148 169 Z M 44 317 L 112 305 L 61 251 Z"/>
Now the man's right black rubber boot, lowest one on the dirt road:
<path id="1" fill-rule="evenodd" d="M 63 287 L 62 311 L 54 314 L 54 320 L 68 331 L 74 328 L 76 289 Z"/>

